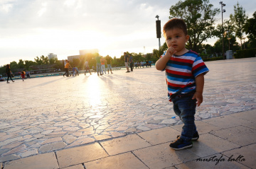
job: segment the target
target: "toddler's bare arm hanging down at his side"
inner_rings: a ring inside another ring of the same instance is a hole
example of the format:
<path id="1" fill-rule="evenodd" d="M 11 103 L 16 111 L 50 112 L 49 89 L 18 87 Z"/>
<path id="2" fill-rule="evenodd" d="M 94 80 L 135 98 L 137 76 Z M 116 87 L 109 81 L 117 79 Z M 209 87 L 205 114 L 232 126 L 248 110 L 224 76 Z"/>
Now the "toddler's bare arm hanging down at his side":
<path id="1" fill-rule="evenodd" d="M 201 105 L 203 103 L 203 86 L 204 86 L 204 76 L 200 74 L 196 76 L 196 93 L 193 95 L 192 99 L 196 98 L 197 105 Z"/>

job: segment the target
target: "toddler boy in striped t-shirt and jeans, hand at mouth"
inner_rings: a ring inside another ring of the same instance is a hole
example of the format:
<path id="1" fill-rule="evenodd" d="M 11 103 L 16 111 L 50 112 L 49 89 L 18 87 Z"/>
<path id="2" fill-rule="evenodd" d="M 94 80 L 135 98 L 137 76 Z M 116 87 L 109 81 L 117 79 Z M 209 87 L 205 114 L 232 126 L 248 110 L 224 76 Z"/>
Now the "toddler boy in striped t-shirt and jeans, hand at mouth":
<path id="1" fill-rule="evenodd" d="M 191 148 L 192 140 L 199 138 L 194 116 L 196 105 L 203 102 L 204 75 L 209 69 L 196 52 L 185 48 L 189 35 L 182 19 L 169 20 L 163 32 L 168 49 L 156 62 L 156 69 L 166 70 L 169 101 L 173 102 L 174 112 L 183 122 L 181 135 L 170 147 L 182 150 Z"/>

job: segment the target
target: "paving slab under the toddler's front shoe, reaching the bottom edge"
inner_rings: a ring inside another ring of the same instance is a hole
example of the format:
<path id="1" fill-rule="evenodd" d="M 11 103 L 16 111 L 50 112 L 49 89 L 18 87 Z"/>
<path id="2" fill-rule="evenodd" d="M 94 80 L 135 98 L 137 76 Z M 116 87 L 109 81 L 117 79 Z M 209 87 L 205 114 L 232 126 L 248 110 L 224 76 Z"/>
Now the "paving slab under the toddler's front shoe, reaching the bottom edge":
<path id="1" fill-rule="evenodd" d="M 168 168 L 173 165 L 199 158 L 199 156 L 196 156 L 196 154 L 187 150 L 174 151 L 169 147 L 169 144 L 166 143 L 150 146 L 147 148 L 141 148 L 139 150 L 133 151 L 133 153 L 149 168 L 154 169 Z"/>

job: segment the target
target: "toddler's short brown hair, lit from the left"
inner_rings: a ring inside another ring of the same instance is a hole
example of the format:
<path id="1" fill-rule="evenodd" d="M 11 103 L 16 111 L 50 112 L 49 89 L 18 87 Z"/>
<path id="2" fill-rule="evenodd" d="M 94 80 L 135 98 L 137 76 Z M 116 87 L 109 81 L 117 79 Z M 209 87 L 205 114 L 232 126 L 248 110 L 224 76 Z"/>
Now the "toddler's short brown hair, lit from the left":
<path id="1" fill-rule="evenodd" d="M 183 19 L 173 18 L 169 20 L 166 24 L 164 24 L 164 36 L 166 35 L 167 30 L 172 30 L 174 28 L 181 29 L 183 30 L 183 33 L 185 33 L 185 35 L 188 35 L 187 26 Z"/>

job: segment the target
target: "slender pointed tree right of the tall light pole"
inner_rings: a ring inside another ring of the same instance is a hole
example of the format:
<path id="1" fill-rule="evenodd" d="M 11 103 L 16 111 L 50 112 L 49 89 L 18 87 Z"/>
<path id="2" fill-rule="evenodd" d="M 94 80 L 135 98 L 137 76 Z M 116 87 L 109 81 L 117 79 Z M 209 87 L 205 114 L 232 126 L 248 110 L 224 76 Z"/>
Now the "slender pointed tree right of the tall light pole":
<path id="1" fill-rule="evenodd" d="M 242 49 L 242 35 L 245 33 L 245 22 L 248 16 L 245 14 L 245 9 L 239 5 L 239 3 L 234 6 L 234 15 L 230 14 L 230 21 L 233 24 L 233 29 L 235 31 L 235 36 L 240 39 L 241 49 Z"/>

